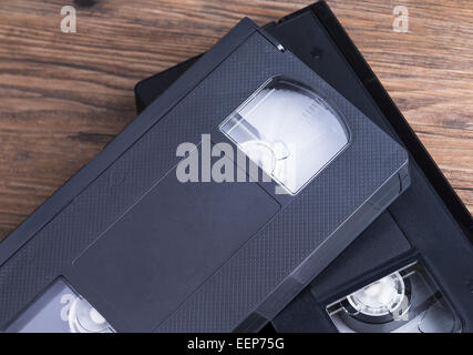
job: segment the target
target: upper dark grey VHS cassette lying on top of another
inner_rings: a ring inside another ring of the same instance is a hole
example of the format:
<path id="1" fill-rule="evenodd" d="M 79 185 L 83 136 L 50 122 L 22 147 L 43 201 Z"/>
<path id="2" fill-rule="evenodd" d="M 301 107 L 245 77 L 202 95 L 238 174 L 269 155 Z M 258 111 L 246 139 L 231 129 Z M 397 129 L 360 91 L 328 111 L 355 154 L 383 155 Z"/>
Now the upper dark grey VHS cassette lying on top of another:
<path id="1" fill-rule="evenodd" d="M 209 179 L 247 178 L 228 150 L 256 178 Z M 0 245 L 0 328 L 258 331 L 409 184 L 407 151 L 245 19 Z"/>

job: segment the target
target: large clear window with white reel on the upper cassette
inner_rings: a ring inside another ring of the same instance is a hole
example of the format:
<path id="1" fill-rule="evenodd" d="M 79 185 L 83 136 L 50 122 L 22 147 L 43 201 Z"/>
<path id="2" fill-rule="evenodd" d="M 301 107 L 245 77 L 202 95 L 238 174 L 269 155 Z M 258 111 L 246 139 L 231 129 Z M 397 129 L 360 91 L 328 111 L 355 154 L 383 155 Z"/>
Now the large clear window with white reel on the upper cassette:
<path id="1" fill-rule="evenodd" d="M 274 78 L 220 125 L 261 170 L 298 193 L 349 142 L 341 118 L 316 92 Z"/>

